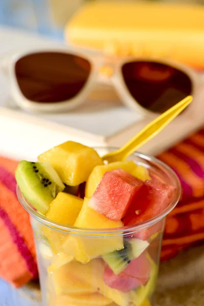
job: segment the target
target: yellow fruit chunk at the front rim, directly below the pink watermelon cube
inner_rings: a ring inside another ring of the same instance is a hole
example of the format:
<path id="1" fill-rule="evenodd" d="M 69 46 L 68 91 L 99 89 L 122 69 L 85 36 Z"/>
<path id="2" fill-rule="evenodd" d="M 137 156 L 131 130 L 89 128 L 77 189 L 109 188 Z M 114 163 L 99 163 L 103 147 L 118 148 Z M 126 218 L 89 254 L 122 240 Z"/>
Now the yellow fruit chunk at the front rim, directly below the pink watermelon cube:
<path id="1" fill-rule="evenodd" d="M 121 227 L 123 223 L 121 221 L 112 221 L 106 216 L 103 216 L 93 209 L 87 206 L 89 199 L 85 198 L 82 210 L 74 223 L 74 226 L 84 227 L 84 228 L 113 228 Z M 92 237 L 87 237 L 86 233 L 80 234 L 78 236 L 71 237 L 72 240 L 75 240 L 75 260 L 85 263 L 89 259 L 96 258 L 103 254 L 120 250 L 123 248 L 123 237 L 122 233 L 120 236 L 113 237 L 114 234 L 104 234 L 104 237 L 97 237 L 95 234 Z M 70 237 L 67 237 L 62 245 L 62 251 L 69 253 L 70 250 Z"/>

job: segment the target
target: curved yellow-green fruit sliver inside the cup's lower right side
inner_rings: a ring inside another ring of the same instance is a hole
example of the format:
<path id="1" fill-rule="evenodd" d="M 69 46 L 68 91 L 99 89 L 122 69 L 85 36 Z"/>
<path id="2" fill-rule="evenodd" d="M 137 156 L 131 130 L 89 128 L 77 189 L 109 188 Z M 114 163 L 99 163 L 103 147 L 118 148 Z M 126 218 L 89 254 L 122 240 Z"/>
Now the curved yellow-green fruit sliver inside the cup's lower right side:
<path id="1" fill-rule="evenodd" d="M 158 266 L 149 255 L 147 257 L 151 264 L 150 278 L 145 286 L 140 286 L 135 291 L 130 292 L 130 299 L 137 306 L 141 306 L 145 299 L 151 297 L 157 285 Z"/>

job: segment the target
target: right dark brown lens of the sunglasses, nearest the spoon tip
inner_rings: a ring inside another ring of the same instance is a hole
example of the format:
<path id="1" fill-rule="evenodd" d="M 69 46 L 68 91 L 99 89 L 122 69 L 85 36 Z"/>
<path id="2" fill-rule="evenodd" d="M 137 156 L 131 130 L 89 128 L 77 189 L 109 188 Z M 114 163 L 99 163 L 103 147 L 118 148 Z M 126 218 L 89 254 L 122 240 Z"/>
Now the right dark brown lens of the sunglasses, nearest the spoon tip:
<path id="1" fill-rule="evenodd" d="M 165 112 L 192 92 L 188 75 L 165 64 L 126 63 L 122 75 L 131 95 L 152 112 Z"/>

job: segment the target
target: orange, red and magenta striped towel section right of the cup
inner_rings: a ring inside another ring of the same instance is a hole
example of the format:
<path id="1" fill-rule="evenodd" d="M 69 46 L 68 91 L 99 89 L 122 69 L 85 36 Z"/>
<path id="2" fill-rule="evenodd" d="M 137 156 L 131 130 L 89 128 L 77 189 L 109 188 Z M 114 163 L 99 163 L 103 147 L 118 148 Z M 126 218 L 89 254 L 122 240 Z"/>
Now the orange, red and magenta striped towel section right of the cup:
<path id="1" fill-rule="evenodd" d="M 162 260 L 204 241 L 204 129 L 158 156 L 179 176 L 182 197 L 169 214 Z"/>

